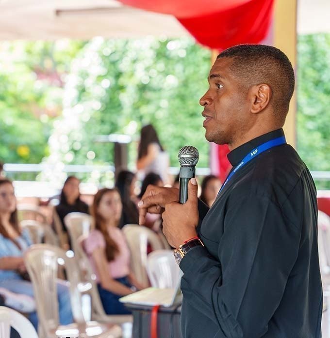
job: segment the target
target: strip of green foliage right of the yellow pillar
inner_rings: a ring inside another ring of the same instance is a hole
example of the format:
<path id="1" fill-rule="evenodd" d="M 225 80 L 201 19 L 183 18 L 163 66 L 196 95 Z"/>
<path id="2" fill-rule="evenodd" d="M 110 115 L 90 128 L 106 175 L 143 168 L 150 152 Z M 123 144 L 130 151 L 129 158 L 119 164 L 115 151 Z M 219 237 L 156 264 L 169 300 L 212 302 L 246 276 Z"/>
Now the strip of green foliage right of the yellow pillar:
<path id="1" fill-rule="evenodd" d="M 297 149 L 309 169 L 330 171 L 330 34 L 299 36 L 297 52 Z"/>

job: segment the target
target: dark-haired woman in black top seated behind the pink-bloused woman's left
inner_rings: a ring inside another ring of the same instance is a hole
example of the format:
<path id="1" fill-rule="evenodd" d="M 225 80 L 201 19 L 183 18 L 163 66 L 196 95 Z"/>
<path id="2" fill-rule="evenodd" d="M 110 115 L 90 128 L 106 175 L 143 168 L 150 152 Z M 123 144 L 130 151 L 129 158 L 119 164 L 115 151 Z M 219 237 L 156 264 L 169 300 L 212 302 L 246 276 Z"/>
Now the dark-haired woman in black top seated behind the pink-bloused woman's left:
<path id="1" fill-rule="evenodd" d="M 60 204 L 55 207 L 64 232 L 67 232 L 64 225 L 64 217 L 67 214 L 74 212 L 89 214 L 88 205 L 80 199 L 79 184 L 77 177 L 68 176 L 61 191 Z"/>

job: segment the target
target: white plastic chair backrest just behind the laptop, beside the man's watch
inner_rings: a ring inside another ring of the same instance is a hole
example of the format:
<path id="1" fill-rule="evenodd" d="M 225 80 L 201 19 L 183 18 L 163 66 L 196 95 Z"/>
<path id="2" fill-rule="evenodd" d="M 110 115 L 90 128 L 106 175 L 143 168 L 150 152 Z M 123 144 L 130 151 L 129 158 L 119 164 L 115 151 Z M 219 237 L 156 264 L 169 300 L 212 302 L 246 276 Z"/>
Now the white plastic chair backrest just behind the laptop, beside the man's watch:
<path id="1" fill-rule="evenodd" d="M 155 250 L 148 254 L 148 277 L 151 286 L 175 288 L 180 278 L 180 268 L 172 250 Z"/>

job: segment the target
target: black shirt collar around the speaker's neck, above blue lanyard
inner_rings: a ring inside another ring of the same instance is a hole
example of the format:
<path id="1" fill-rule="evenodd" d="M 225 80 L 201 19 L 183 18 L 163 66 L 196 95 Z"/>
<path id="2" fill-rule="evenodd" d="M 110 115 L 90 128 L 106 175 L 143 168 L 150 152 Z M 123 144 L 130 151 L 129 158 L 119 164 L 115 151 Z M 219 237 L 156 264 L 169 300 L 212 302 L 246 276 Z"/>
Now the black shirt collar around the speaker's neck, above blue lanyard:
<path id="1" fill-rule="evenodd" d="M 277 129 L 274 131 L 271 131 L 267 134 L 264 134 L 262 136 L 259 136 L 257 138 L 253 138 L 247 143 L 242 144 L 241 146 L 235 148 L 232 150 L 228 155 L 229 162 L 233 167 L 238 165 L 240 161 L 246 156 L 251 150 L 254 148 L 257 148 L 261 144 L 270 141 L 271 139 L 274 138 L 280 138 L 281 136 L 284 136 L 284 131 L 283 129 Z"/>

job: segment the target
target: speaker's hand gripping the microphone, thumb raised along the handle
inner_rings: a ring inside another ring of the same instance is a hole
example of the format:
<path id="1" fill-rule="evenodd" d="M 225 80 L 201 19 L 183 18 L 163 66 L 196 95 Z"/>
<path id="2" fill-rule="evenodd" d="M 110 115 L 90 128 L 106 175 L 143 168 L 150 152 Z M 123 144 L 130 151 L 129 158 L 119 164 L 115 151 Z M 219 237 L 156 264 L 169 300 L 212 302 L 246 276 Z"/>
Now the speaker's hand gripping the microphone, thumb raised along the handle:
<path id="1" fill-rule="evenodd" d="M 197 236 L 198 198 L 197 181 L 192 178 L 188 184 L 188 200 L 184 204 L 177 201 L 165 205 L 163 232 L 168 243 L 178 247 L 189 238 Z"/>

